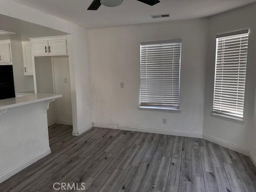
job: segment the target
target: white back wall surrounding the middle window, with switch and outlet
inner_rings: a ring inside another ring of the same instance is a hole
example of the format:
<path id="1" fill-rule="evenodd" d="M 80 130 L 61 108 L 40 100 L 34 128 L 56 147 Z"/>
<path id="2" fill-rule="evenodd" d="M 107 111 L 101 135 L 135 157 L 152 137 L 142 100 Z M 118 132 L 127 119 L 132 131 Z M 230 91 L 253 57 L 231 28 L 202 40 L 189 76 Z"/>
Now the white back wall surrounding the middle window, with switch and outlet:
<path id="1" fill-rule="evenodd" d="M 207 19 L 89 30 L 93 122 L 202 134 L 206 34 Z M 181 112 L 139 110 L 140 42 L 170 39 L 182 39 Z"/>

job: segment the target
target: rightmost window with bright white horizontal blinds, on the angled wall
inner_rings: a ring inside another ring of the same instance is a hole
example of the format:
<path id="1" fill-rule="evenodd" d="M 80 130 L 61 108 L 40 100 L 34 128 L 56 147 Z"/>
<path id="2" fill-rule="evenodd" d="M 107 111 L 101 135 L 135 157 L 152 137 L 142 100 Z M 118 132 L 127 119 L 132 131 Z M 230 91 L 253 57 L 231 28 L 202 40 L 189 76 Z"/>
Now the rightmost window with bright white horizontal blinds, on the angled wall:
<path id="1" fill-rule="evenodd" d="M 216 36 L 213 113 L 243 119 L 248 30 Z"/>

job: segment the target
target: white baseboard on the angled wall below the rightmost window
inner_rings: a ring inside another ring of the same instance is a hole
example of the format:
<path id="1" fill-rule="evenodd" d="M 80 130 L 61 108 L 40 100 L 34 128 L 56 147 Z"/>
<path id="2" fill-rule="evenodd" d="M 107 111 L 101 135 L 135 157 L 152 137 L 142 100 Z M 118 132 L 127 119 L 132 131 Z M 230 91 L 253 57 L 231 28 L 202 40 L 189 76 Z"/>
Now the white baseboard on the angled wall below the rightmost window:
<path id="1" fill-rule="evenodd" d="M 216 138 L 216 137 L 213 137 L 213 136 L 210 136 L 210 135 L 207 135 L 207 134 L 203 134 L 203 138 L 205 140 L 208 140 L 208 141 L 211 141 L 211 142 L 214 142 L 220 146 L 223 146 L 223 147 L 226 147 L 228 149 L 231 149 L 233 151 L 236 151 L 236 152 L 239 152 L 239 153 L 242 153 L 244 155 L 247 155 L 249 156 L 249 149 L 247 148 L 244 148 L 242 146 L 238 146 L 236 144 L 232 144 L 230 142 L 227 142 L 225 140 L 222 140 L 222 139 L 219 139 L 219 138 Z"/>

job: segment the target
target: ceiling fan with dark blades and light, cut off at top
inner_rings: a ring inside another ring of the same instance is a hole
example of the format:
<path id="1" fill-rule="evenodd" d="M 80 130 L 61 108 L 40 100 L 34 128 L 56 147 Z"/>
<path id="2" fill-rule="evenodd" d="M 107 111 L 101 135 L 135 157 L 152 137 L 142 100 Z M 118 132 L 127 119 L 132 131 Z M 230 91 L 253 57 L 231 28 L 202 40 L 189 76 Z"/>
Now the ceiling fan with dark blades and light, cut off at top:
<path id="1" fill-rule="evenodd" d="M 150 6 L 153 6 L 160 2 L 159 0 L 137 0 L 137 1 L 146 3 Z M 123 0 L 93 0 L 92 4 L 90 4 L 87 10 L 98 10 L 101 4 L 107 7 L 116 7 L 122 4 L 122 2 Z"/>

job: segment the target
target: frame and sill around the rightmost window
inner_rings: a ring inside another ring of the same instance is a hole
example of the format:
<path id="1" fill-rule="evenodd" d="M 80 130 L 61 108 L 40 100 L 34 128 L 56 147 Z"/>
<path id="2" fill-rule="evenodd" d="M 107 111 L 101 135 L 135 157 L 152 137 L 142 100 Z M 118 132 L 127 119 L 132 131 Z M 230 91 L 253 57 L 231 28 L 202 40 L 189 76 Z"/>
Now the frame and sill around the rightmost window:
<path id="1" fill-rule="evenodd" d="M 245 72 L 245 82 L 244 82 L 244 99 L 243 99 L 242 117 L 235 116 L 235 115 L 229 115 L 229 114 L 225 114 L 223 112 L 218 112 L 218 111 L 214 110 L 214 98 L 215 98 L 215 91 L 216 91 L 215 87 L 216 87 L 216 70 L 217 70 L 217 56 L 218 56 L 218 53 L 217 53 L 218 38 L 241 35 L 241 34 L 246 34 L 246 33 L 248 33 L 248 44 L 249 44 L 249 29 L 216 35 L 216 38 L 215 38 L 216 48 L 215 48 L 214 94 L 213 94 L 212 112 L 211 112 L 211 114 L 215 117 L 218 117 L 218 118 L 221 118 L 221 119 L 226 119 L 226 120 L 231 120 L 231 121 L 234 121 L 234 122 L 242 122 L 242 123 L 244 122 L 244 104 L 245 104 L 245 92 L 246 92 L 245 88 L 246 88 L 247 63 L 248 63 L 248 46 L 247 46 L 247 54 L 246 54 L 246 72 Z"/>

